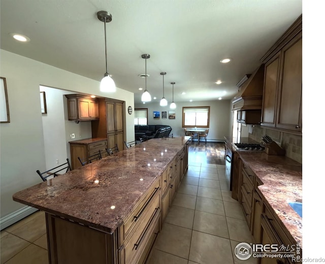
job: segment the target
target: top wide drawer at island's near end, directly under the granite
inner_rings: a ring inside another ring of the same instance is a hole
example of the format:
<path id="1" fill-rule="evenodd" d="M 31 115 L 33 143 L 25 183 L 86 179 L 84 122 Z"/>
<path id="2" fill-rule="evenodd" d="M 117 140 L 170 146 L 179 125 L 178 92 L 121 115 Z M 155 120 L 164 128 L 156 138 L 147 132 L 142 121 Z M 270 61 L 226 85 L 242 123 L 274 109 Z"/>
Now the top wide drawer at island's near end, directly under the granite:
<path id="1" fill-rule="evenodd" d="M 150 188 L 150 190 L 141 199 L 140 203 L 137 205 L 136 209 L 128 216 L 125 220 L 124 229 L 124 240 L 127 238 L 129 233 L 131 233 L 136 225 L 142 221 L 143 217 L 148 211 L 153 211 L 156 207 L 159 207 L 159 195 L 160 187 L 159 180 Z M 158 202 L 158 205 L 156 203 Z M 155 206 L 155 207 L 153 207 Z"/>

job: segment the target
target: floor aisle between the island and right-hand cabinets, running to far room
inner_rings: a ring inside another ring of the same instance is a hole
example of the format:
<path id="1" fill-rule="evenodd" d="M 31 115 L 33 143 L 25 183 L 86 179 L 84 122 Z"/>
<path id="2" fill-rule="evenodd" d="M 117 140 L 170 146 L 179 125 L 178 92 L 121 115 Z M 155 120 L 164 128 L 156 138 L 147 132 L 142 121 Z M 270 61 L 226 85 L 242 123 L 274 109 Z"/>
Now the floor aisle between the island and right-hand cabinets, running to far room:
<path id="1" fill-rule="evenodd" d="M 246 264 L 233 252 L 253 242 L 225 179 L 223 144 L 190 143 L 188 171 L 158 235 L 149 264 Z"/>

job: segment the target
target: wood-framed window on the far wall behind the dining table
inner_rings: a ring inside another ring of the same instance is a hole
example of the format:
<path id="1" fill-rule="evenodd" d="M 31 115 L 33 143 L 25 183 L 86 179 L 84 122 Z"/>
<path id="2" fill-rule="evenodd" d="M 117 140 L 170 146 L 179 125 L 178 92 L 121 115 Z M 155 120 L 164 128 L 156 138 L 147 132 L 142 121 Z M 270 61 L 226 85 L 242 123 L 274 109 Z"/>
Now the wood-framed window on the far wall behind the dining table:
<path id="1" fill-rule="evenodd" d="M 210 106 L 183 107 L 183 127 L 209 127 Z"/>

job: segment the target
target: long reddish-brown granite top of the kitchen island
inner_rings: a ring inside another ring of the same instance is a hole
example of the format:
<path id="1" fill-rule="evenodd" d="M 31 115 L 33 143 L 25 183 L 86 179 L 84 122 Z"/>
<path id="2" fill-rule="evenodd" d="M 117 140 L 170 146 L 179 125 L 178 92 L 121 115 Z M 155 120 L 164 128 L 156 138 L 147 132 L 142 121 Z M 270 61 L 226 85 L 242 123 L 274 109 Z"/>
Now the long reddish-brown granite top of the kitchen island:
<path id="1" fill-rule="evenodd" d="M 150 139 L 17 192 L 13 200 L 113 233 L 188 139 Z"/>

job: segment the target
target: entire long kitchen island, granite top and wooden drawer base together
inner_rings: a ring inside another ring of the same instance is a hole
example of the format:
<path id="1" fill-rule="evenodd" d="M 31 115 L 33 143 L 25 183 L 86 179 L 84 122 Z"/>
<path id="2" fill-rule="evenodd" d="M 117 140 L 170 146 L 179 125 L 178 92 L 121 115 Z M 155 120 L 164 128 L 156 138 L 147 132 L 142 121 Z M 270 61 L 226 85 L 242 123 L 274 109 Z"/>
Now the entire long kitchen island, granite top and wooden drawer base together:
<path id="1" fill-rule="evenodd" d="M 151 139 L 14 194 L 45 211 L 49 263 L 144 263 L 187 169 L 188 139 Z"/>

